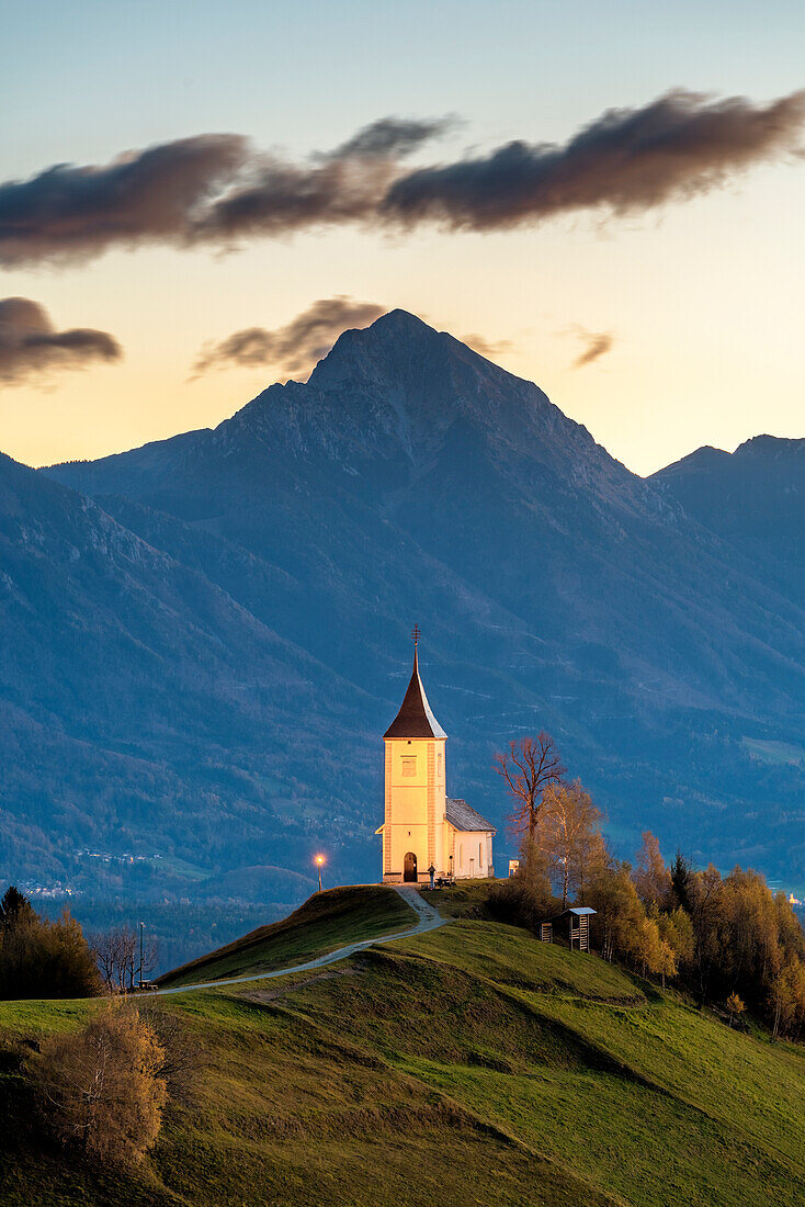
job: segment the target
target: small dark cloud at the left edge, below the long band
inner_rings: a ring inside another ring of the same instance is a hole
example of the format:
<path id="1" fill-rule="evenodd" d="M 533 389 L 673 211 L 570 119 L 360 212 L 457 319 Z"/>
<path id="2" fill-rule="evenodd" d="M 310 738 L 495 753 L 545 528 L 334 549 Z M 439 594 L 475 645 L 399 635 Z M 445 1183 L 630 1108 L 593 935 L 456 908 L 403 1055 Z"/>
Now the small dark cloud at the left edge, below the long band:
<path id="1" fill-rule="evenodd" d="M 52 369 L 83 368 L 89 361 L 116 361 L 121 355 L 119 344 L 105 331 L 56 331 L 39 303 L 0 299 L 0 381 L 5 384 Z"/>

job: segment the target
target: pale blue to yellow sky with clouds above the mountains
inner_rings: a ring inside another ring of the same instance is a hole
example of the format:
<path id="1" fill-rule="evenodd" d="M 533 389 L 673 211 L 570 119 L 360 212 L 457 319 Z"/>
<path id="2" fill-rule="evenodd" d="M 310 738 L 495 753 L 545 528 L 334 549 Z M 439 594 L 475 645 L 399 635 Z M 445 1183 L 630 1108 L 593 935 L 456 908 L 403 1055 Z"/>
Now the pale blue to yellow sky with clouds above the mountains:
<path id="1" fill-rule="evenodd" d="M 212 426 L 395 307 L 640 474 L 805 437 L 800 4 L 33 0 L 2 24 L 17 460 Z"/>

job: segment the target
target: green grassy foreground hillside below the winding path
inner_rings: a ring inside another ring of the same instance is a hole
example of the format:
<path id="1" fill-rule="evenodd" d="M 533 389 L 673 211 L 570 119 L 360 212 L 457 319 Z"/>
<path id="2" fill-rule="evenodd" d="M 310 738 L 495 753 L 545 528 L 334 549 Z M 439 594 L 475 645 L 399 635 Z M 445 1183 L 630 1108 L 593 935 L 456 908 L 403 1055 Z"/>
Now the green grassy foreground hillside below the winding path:
<path id="1" fill-rule="evenodd" d="M 94 1008 L 2 1003 L 0 1036 Z M 459 917 L 152 1008 L 197 1073 L 146 1166 L 82 1171 L 0 1129 L 4 1205 L 805 1201 L 805 1050 L 512 927 Z M 21 1118 L 8 1065 L 0 1094 Z"/>

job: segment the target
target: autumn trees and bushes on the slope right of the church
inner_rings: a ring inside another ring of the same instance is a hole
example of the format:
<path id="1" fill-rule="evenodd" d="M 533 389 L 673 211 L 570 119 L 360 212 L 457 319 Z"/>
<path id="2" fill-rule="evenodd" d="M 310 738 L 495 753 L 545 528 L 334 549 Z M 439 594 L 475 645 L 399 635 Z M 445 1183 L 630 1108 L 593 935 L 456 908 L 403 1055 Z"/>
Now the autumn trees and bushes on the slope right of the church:
<path id="1" fill-rule="evenodd" d="M 666 864 L 651 832 L 632 863 L 617 859 L 602 812 L 578 780 L 567 780 L 549 734 L 513 741 L 496 769 L 521 849 L 518 875 L 490 892 L 497 917 L 538 933 L 568 902 L 588 905 L 606 960 L 663 986 L 675 981 L 730 1025 L 749 1009 L 775 1037 L 805 1036 L 805 933 L 784 893 L 751 869 L 722 876 L 681 852 Z"/>

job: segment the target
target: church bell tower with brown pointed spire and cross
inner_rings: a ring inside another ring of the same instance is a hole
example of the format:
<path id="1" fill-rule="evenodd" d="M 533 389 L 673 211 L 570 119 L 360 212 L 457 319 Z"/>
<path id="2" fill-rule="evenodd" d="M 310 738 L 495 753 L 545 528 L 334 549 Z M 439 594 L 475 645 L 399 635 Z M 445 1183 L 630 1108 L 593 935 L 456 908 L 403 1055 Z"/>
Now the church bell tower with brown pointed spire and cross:
<path id="1" fill-rule="evenodd" d="M 428 868 L 445 865 L 445 746 L 448 735 L 431 711 L 419 674 L 419 628 L 414 669 L 399 712 L 384 734 L 384 884 L 425 884 Z"/>

